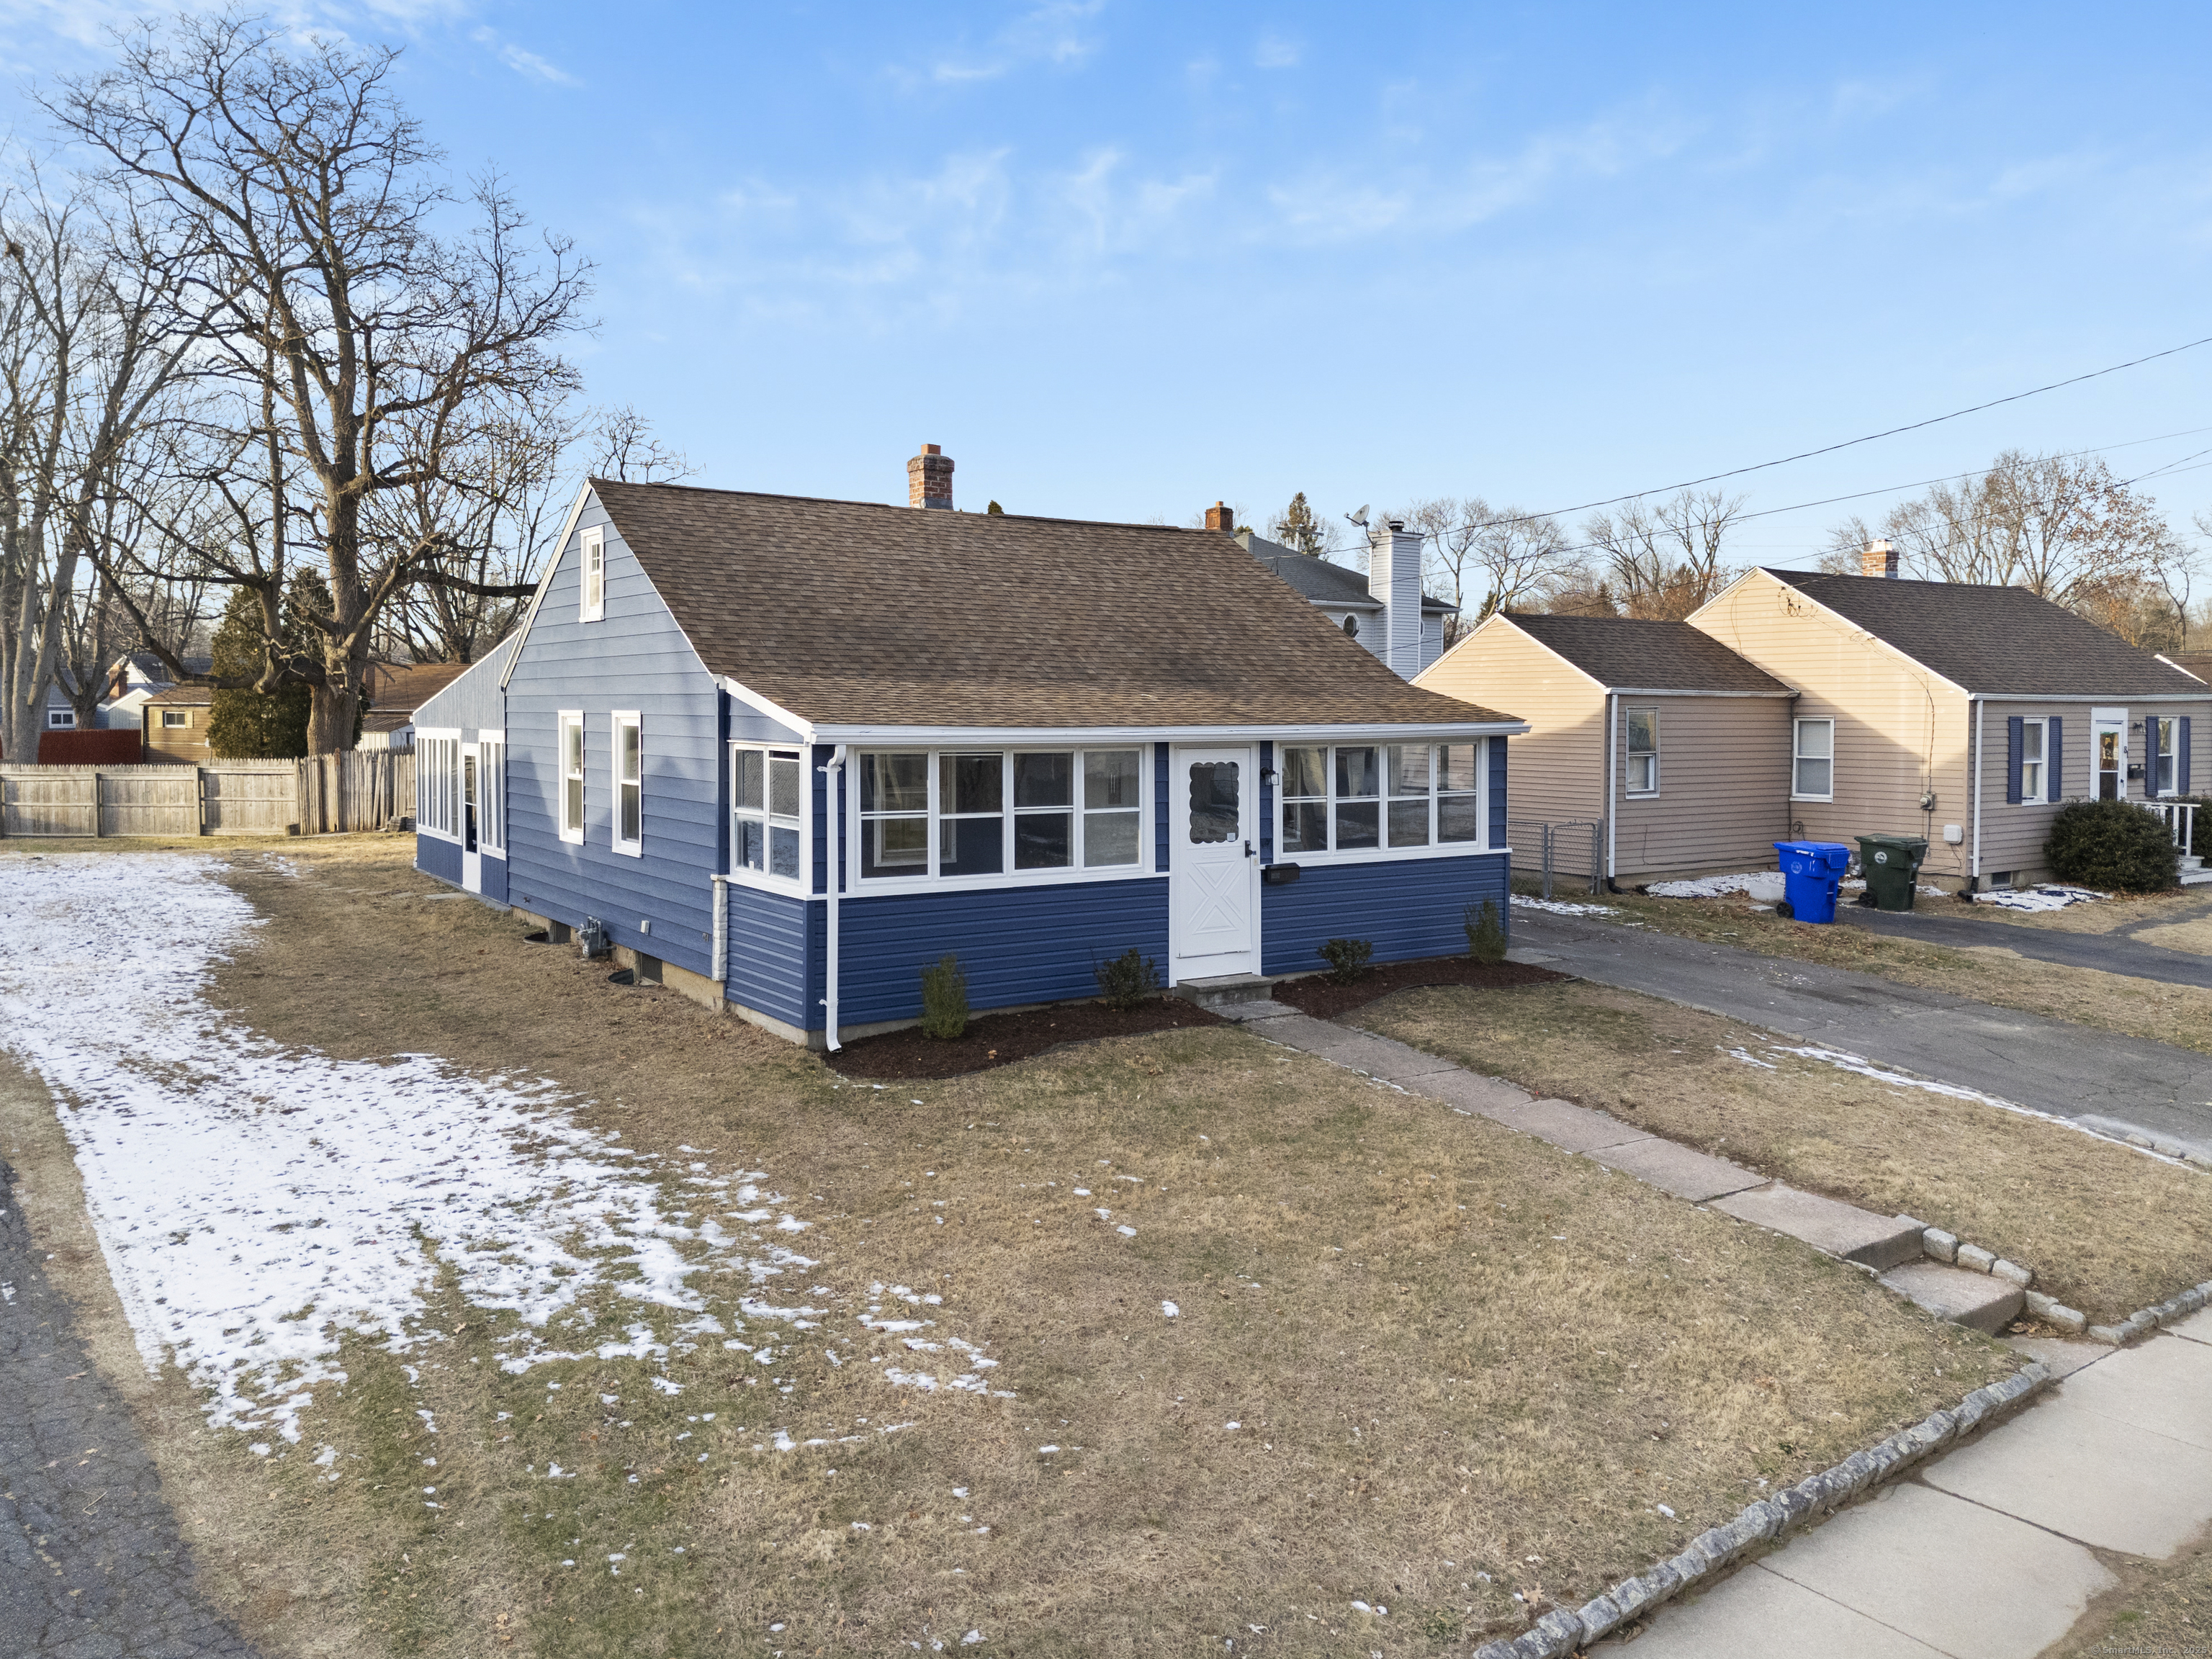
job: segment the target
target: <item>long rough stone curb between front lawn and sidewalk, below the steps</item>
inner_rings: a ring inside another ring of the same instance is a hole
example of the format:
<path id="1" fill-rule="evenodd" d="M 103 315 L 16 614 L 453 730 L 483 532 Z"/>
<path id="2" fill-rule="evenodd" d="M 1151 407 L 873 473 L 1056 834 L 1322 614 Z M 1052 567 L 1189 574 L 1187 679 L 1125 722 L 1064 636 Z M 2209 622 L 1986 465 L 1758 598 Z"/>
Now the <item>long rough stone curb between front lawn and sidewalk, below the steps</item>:
<path id="1" fill-rule="evenodd" d="M 1865 1451 L 1854 1451 L 1834 1469 L 1807 1475 L 1772 1498 L 1747 1504 L 1734 1520 L 1690 1540 L 1679 1555 L 1659 1562 L 1650 1573 L 1621 1579 L 1579 1608 L 1553 1608 L 1517 1637 L 1484 1641 L 1471 1659 L 1568 1659 L 1577 1648 L 1599 1641 L 1624 1624 L 1641 1619 L 1663 1601 L 1692 1590 L 1714 1573 L 1732 1566 L 1761 1544 L 1820 1520 L 1891 1475 L 1984 1429 L 2051 1387 L 2051 1369 L 2037 1360 L 2002 1383 L 1975 1389 L 1947 1411 L 1936 1411 L 1911 1429 L 1900 1429 Z"/>

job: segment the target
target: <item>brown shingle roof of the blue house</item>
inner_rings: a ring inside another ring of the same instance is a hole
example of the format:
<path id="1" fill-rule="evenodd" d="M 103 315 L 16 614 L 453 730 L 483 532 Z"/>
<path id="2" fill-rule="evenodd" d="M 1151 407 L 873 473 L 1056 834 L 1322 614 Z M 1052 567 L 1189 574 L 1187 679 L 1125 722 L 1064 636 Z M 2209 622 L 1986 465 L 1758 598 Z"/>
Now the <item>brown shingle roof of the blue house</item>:
<path id="1" fill-rule="evenodd" d="M 593 480 L 699 659 L 823 726 L 1451 726 L 1232 538 Z"/>

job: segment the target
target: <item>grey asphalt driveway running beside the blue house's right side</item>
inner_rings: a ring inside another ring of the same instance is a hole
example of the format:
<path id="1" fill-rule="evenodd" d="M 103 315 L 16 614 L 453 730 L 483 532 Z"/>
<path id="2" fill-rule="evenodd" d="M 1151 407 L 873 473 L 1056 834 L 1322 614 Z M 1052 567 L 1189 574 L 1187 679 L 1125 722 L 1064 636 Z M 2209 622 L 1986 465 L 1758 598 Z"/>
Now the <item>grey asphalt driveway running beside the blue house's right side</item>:
<path id="1" fill-rule="evenodd" d="M 1597 984 L 1847 1048 L 2059 1117 L 2108 1117 L 2212 1146 L 2212 1055 L 1599 916 L 1515 909 L 1513 945 L 1515 960 Z"/>

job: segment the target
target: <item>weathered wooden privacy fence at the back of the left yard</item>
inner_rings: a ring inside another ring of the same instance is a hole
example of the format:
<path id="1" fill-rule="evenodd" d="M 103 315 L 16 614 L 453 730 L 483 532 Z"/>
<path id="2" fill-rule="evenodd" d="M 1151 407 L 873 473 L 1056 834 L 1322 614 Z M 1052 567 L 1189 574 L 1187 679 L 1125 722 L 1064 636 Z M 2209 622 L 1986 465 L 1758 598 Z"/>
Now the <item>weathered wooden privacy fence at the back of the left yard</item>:
<path id="1" fill-rule="evenodd" d="M 414 754 L 0 765 L 0 836 L 319 836 L 411 814 Z"/>

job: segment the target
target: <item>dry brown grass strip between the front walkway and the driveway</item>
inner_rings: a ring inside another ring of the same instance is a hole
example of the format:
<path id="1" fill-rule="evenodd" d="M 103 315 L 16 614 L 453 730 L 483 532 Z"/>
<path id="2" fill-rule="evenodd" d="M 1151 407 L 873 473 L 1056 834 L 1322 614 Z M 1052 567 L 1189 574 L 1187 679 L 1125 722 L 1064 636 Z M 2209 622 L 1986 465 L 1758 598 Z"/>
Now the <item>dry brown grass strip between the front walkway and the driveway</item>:
<path id="1" fill-rule="evenodd" d="M 2212 1177 L 1787 1055 L 1734 1020 L 1597 984 L 1407 991 L 1356 1020 L 1792 1186 L 1947 1228 L 2099 1321 L 2212 1276 Z"/>

